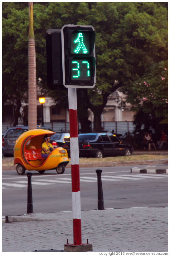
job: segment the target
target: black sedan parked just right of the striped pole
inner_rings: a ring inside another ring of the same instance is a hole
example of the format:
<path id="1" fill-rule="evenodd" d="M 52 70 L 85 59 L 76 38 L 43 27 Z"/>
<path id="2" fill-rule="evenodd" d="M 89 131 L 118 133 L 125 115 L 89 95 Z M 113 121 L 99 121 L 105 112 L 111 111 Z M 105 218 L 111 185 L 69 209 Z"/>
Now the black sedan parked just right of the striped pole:
<path id="1" fill-rule="evenodd" d="M 133 147 L 112 133 L 80 133 L 79 156 L 103 158 L 133 153 Z"/>

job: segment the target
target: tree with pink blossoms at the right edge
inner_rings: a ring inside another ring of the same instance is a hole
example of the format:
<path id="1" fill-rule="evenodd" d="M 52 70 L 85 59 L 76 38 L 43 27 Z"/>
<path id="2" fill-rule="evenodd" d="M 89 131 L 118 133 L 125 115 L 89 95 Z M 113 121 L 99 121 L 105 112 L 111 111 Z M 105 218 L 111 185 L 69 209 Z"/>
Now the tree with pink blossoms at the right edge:
<path id="1" fill-rule="evenodd" d="M 155 118 L 168 118 L 168 61 L 150 67 L 145 75 L 130 87 L 127 102 L 133 111 Z"/>

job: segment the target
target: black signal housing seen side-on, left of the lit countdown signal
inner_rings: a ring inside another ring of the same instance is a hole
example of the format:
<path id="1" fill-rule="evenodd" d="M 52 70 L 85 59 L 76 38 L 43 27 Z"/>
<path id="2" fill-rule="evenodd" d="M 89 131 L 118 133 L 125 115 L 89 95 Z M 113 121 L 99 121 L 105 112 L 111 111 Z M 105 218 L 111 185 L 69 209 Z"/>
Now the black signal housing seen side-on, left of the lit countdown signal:
<path id="1" fill-rule="evenodd" d="M 51 90 L 66 89 L 63 86 L 61 29 L 46 31 L 47 86 Z"/>

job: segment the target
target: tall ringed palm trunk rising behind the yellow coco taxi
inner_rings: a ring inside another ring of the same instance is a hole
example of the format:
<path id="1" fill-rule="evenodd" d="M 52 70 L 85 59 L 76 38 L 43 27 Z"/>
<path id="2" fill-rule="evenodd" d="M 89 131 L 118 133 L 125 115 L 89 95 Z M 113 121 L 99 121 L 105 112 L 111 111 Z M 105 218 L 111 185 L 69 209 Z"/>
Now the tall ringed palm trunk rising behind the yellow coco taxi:
<path id="1" fill-rule="evenodd" d="M 29 2 L 28 39 L 28 130 L 36 129 L 36 52 L 33 28 L 33 2 Z"/>

